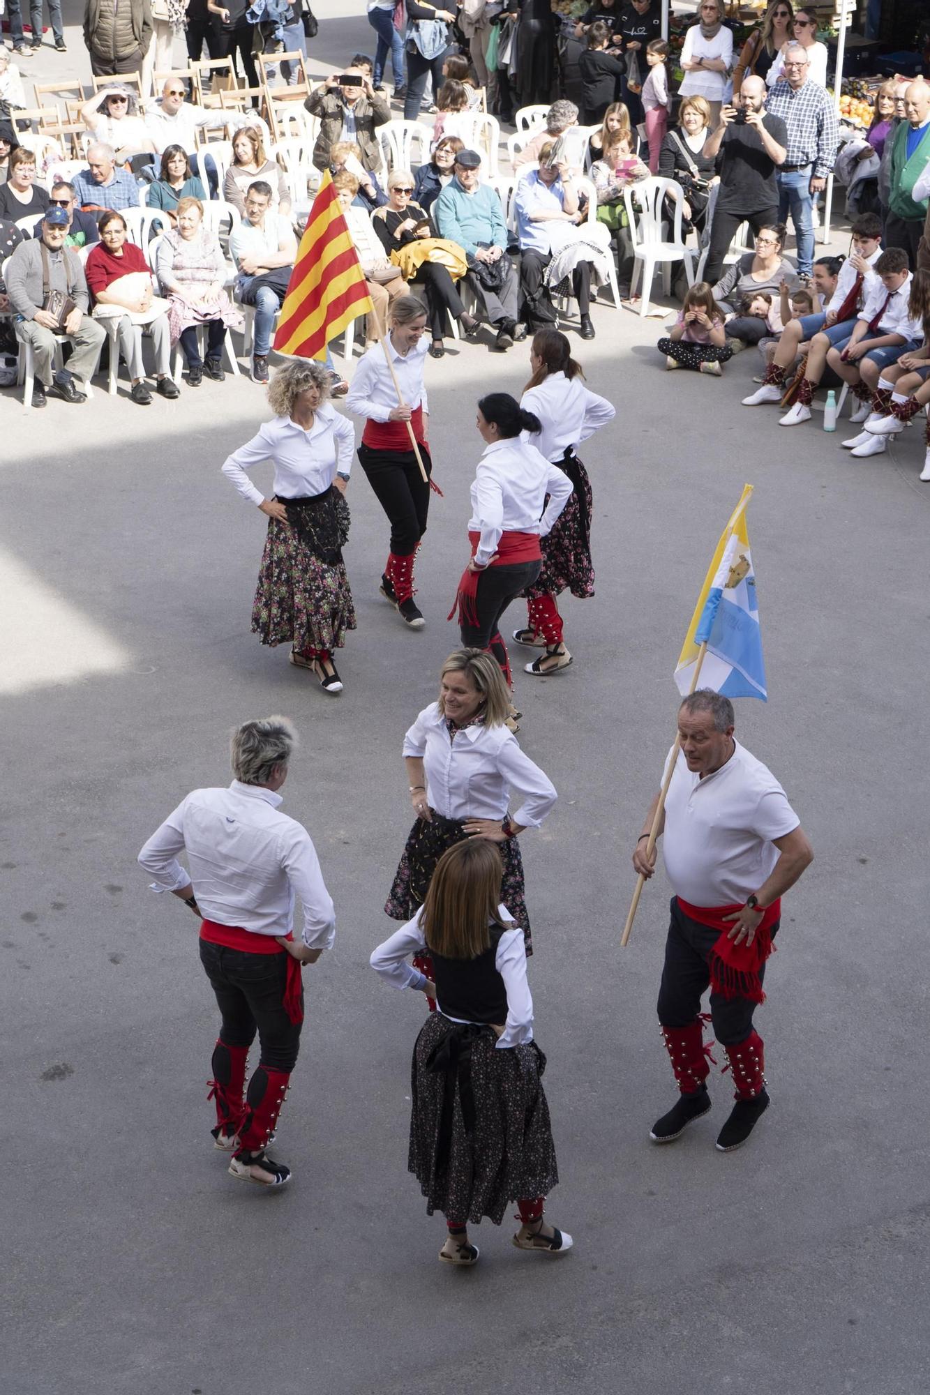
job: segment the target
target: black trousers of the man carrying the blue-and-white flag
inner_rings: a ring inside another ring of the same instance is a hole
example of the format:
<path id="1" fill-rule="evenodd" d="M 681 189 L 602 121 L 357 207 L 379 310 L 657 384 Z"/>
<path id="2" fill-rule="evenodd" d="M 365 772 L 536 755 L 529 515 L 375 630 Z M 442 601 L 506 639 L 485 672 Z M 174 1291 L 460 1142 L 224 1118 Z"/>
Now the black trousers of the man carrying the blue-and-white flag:
<path id="1" fill-rule="evenodd" d="M 772 940 L 781 922 L 772 926 Z M 672 897 L 672 921 L 665 942 L 665 967 L 659 986 L 658 1013 L 663 1027 L 687 1027 L 701 1010 L 701 997 L 711 983 L 708 957 L 719 939 L 719 930 L 693 921 Z M 760 970 L 765 978 L 765 965 Z M 753 1031 L 755 1003 L 746 997 L 721 997 L 711 993 L 714 1035 L 721 1046 L 739 1046 Z"/>

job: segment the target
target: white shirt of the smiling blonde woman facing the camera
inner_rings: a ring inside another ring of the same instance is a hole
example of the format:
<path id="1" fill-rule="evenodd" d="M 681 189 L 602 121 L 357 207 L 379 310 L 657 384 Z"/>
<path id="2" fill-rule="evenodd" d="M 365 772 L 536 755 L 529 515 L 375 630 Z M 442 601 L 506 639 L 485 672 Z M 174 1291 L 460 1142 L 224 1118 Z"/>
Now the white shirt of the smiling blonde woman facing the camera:
<path id="1" fill-rule="evenodd" d="M 472 723 L 450 735 L 438 703 L 430 703 L 404 737 L 404 755 L 419 756 L 426 773 L 426 798 L 444 819 L 501 820 L 511 785 L 524 795 L 514 823 L 538 829 L 559 798 L 507 727 Z"/>

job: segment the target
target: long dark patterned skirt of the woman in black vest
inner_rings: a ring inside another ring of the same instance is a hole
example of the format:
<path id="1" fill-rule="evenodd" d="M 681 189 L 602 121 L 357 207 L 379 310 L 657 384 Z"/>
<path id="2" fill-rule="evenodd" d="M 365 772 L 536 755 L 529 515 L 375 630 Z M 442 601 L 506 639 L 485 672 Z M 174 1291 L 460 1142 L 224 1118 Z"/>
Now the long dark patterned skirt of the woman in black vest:
<path id="1" fill-rule="evenodd" d="M 497 1049 L 490 1027 L 431 1013 L 413 1048 L 408 1169 L 430 1215 L 500 1225 L 510 1202 L 559 1182 L 546 1057 L 535 1042 Z"/>

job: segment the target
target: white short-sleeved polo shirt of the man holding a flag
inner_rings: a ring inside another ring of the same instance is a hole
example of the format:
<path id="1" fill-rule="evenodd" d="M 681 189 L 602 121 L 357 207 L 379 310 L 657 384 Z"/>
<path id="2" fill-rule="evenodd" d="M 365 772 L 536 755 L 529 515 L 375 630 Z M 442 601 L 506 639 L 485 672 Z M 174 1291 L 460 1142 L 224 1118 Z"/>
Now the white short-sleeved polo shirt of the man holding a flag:
<path id="1" fill-rule="evenodd" d="M 665 870 L 674 894 L 691 905 L 741 905 L 778 862 L 772 840 L 800 823 L 768 766 L 739 741 L 733 746 L 702 780 L 679 751 L 666 795 Z"/>

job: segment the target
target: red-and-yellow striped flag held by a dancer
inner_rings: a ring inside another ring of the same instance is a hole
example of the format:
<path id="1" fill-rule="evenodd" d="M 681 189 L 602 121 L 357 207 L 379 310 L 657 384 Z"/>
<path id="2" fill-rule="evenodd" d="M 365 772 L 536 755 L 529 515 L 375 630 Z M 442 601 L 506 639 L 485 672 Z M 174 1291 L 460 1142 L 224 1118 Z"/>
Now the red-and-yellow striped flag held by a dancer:
<path id="1" fill-rule="evenodd" d="M 328 342 L 367 314 L 374 306 L 327 170 L 300 239 L 274 347 L 299 359 L 325 359 Z"/>

